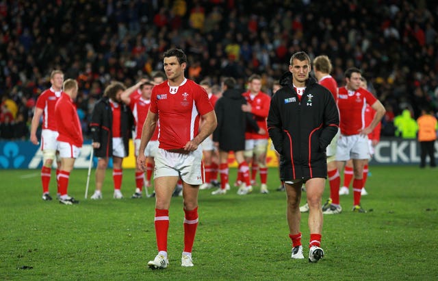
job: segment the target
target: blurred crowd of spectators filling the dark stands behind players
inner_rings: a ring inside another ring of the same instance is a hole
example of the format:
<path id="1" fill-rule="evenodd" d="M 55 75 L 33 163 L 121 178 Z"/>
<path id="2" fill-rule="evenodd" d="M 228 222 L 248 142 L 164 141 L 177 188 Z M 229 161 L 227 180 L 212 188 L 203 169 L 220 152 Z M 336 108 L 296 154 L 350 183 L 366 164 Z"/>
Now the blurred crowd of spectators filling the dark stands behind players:
<path id="1" fill-rule="evenodd" d="M 172 47 L 187 53 L 196 82 L 231 76 L 244 88 L 257 73 L 268 94 L 296 51 L 329 56 L 339 86 L 356 66 L 387 109 L 382 135 L 393 136 L 402 110 L 437 112 L 437 15 L 433 0 L 0 0 L 0 137 L 29 137 L 53 69 L 79 82 L 87 137 L 105 86 L 162 71 Z"/>

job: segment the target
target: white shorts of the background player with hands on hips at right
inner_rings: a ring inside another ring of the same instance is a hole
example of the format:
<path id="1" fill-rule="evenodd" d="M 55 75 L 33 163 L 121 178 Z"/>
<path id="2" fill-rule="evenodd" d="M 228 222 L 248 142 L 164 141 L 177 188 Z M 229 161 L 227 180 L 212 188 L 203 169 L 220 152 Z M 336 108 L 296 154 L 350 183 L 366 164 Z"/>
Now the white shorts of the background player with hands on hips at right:
<path id="1" fill-rule="evenodd" d="M 345 136 L 341 134 L 337 139 L 336 160 L 346 161 L 350 159 L 370 159 L 368 148 L 368 136 L 353 134 Z"/>

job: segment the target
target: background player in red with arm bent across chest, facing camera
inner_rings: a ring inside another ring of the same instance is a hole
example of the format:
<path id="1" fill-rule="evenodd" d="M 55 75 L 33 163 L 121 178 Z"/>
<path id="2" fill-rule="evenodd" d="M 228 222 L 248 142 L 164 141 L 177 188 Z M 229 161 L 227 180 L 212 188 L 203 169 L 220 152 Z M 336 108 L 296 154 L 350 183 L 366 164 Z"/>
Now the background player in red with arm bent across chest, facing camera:
<path id="1" fill-rule="evenodd" d="M 248 91 L 243 94 L 246 104 L 242 105 L 242 111 L 253 114 L 257 125 L 263 129 L 263 134 L 257 130 L 248 128 L 245 133 L 245 160 L 251 164 L 251 185 L 255 184 L 257 170 L 260 173 L 260 193 L 268 191 L 268 167 L 266 166 L 266 153 L 268 151 L 268 117 L 270 96 L 261 91 L 261 77 L 253 74 L 248 79 Z"/>

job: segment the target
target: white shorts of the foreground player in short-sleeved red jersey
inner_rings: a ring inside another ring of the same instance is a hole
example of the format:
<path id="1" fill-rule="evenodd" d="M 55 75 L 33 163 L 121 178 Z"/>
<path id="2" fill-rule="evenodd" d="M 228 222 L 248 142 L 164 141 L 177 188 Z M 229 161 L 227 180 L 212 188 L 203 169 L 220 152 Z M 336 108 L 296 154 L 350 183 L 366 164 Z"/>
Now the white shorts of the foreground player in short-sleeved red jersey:
<path id="1" fill-rule="evenodd" d="M 189 154 L 180 154 L 159 148 L 155 155 L 154 178 L 175 176 L 192 185 L 203 184 L 203 149 L 198 149 Z"/>

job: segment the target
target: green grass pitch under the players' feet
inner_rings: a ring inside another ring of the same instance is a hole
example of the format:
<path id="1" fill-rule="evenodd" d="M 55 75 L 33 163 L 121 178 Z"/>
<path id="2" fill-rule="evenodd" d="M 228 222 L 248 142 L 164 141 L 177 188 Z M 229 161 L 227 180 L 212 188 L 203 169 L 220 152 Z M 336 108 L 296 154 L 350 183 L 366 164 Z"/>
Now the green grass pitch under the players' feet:
<path id="1" fill-rule="evenodd" d="M 0 280 L 437 280 L 438 170 L 370 171 L 362 205 L 372 211 L 352 213 L 351 192 L 342 196 L 344 212 L 324 216 L 326 256 L 316 264 L 290 258 L 285 193 L 275 191 L 277 173 L 270 169 L 268 195 L 257 186 L 246 196 L 235 188 L 216 197 L 200 192 L 192 268 L 180 265 L 182 199 L 173 198 L 170 266 L 152 271 L 146 262 L 156 254 L 154 199 L 112 199 L 108 171 L 103 200 L 84 200 L 86 170 L 75 170 L 69 193 L 81 202 L 64 206 L 42 201 L 39 171 L 1 170 Z M 52 195 L 54 186 L 52 179 Z M 133 186 L 134 172 L 126 170 L 125 197 Z M 301 225 L 306 245 L 307 214 Z"/>

